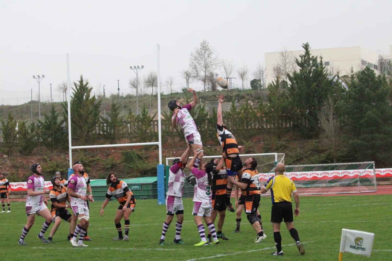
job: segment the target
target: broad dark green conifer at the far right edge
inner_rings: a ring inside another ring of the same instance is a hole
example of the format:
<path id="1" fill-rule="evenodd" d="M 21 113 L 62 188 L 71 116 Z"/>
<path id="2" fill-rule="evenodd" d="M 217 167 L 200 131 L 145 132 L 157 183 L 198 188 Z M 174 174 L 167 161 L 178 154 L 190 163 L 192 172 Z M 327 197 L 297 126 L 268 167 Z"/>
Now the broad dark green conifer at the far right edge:
<path id="1" fill-rule="evenodd" d="M 391 86 L 385 76 L 366 67 L 352 76 L 347 98 L 340 103 L 345 142 L 356 160 L 390 162 L 392 150 Z"/>

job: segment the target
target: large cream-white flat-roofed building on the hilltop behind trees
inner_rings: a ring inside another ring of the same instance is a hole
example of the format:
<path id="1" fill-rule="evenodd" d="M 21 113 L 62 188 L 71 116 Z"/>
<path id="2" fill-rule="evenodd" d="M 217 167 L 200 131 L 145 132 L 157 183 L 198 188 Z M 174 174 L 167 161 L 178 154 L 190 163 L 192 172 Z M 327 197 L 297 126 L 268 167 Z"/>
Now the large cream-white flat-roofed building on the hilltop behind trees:
<path id="1" fill-rule="evenodd" d="M 286 52 L 286 56 L 291 58 L 292 67 L 297 67 L 296 63 L 294 62 L 294 57 L 299 59 L 299 55 L 303 53 L 304 50 Z M 366 50 L 359 46 L 310 49 L 310 53 L 314 56 L 318 56 L 318 58 L 322 56 L 324 65 L 328 68 L 328 71 L 330 71 L 331 74 L 332 72 L 333 74 L 339 72 L 340 76 L 348 75 L 350 73 L 351 67 L 354 69 L 354 71 L 358 71 L 366 66 L 372 68 L 376 74 L 380 74 L 380 71 L 383 70 L 383 72 L 385 72 L 390 64 L 380 63 L 379 59 L 383 58 L 385 61 L 390 61 L 392 45 L 390 45 L 389 55 L 379 55 L 377 52 Z M 281 64 L 281 52 L 265 53 L 265 68 L 267 70 L 265 79 L 266 84 L 274 80 L 273 68 L 279 64 Z M 296 69 L 298 70 L 298 68 Z"/>

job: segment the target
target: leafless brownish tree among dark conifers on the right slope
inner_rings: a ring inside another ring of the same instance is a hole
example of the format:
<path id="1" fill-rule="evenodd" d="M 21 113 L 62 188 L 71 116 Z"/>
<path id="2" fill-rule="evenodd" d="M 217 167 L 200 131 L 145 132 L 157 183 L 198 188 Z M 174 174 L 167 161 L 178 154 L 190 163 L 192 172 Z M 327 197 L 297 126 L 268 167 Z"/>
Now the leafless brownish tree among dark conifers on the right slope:
<path id="1" fill-rule="evenodd" d="M 320 126 L 323 130 L 323 137 L 330 140 L 330 148 L 334 155 L 334 163 L 336 163 L 337 146 L 339 144 L 340 129 L 339 117 L 335 109 L 335 102 L 331 95 L 328 95 L 323 108 L 319 112 Z"/>

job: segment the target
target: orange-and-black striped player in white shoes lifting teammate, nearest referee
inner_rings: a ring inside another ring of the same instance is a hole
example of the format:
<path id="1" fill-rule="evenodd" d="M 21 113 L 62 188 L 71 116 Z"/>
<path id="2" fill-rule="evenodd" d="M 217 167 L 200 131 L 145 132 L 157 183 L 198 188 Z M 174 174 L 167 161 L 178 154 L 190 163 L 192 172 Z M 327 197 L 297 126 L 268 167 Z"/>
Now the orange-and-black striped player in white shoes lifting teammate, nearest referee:
<path id="1" fill-rule="evenodd" d="M 242 197 L 245 199 L 245 213 L 250 225 L 257 233 L 254 242 L 259 243 L 267 237 L 261 228 L 261 219 L 257 215 L 261 195 L 260 175 L 256 169 L 257 160 L 249 158 L 245 164 L 246 168 L 243 170 L 241 182 L 235 180 L 234 176 L 229 176 L 228 179 L 242 190 Z"/>

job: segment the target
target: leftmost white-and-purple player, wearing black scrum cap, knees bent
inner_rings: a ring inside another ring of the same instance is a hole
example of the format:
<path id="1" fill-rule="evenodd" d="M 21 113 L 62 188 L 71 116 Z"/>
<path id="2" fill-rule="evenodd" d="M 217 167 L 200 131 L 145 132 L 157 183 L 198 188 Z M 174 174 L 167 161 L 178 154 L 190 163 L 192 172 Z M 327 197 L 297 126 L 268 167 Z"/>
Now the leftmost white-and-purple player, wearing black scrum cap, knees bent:
<path id="1" fill-rule="evenodd" d="M 27 178 L 27 198 L 26 198 L 26 214 L 27 214 L 27 224 L 22 229 L 22 235 L 19 239 L 19 245 L 27 245 L 24 241 L 30 228 L 33 226 L 35 221 L 35 215 L 42 216 L 46 219 L 38 238 L 41 239 L 42 243 L 50 243 L 44 237 L 46 230 L 52 223 L 52 215 L 49 209 L 46 207 L 48 202 L 44 196 L 45 193 L 49 192 L 49 189 L 44 187 L 44 177 L 42 174 L 42 167 L 40 164 L 36 163 L 30 167 L 33 171 L 33 175 Z"/>

